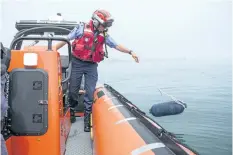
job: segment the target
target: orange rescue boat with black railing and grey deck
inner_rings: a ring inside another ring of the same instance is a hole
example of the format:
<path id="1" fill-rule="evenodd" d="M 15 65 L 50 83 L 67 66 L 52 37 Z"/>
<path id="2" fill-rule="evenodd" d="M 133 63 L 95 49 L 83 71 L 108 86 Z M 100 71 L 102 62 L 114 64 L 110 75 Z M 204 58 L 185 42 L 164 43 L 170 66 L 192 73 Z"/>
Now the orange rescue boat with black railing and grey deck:
<path id="1" fill-rule="evenodd" d="M 9 155 L 198 154 L 108 84 L 96 87 L 91 132 L 83 131 L 83 93 L 77 121 L 71 124 L 67 95 L 71 44 L 56 35 L 67 35 L 76 24 L 16 23 L 18 33 L 9 48 L 10 108 L 2 131 Z M 34 44 L 22 46 L 29 40 Z M 42 40 L 47 44 L 37 46 Z M 53 41 L 67 42 L 68 63 L 62 63 L 67 56 L 56 50 Z"/>

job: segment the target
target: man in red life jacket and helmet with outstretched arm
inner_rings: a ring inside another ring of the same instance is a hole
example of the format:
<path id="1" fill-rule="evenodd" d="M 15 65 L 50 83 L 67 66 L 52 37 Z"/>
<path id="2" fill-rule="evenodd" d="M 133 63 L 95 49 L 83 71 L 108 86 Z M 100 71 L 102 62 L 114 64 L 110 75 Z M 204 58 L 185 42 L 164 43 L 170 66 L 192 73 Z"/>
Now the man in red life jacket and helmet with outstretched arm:
<path id="1" fill-rule="evenodd" d="M 112 26 L 113 21 L 109 12 L 105 10 L 96 10 L 89 23 L 80 23 L 68 35 L 68 40 L 74 39 L 72 43 L 72 71 L 69 91 L 71 122 L 75 121 L 74 107 L 75 104 L 77 104 L 78 91 L 82 75 L 84 75 L 86 90 L 84 96 L 85 132 L 90 132 L 90 113 L 92 110 L 93 94 L 98 80 L 97 66 L 106 55 L 103 47 L 104 43 L 118 51 L 130 54 L 137 63 L 139 62 L 134 52 L 122 45 L 116 44 L 116 42 L 106 34 L 107 29 Z M 65 44 L 65 42 L 60 42 L 56 45 L 56 48 L 60 49 Z"/>

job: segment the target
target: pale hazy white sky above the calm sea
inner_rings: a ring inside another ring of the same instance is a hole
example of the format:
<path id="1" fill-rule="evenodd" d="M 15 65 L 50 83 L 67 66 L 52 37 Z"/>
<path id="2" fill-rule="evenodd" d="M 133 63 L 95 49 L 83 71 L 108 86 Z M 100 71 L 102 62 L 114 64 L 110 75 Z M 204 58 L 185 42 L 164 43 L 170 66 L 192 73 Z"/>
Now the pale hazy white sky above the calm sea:
<path id="1" fill-rule="evenodd" d="M 110 35 L 142 58 L 231 56 L 229 0 L 0 0 L 1 41 L 9 46 L 21 19 L 88 21 L 104 8 L 115 18 Z M 122 55 L 110 50 L 111 56 Z"/>

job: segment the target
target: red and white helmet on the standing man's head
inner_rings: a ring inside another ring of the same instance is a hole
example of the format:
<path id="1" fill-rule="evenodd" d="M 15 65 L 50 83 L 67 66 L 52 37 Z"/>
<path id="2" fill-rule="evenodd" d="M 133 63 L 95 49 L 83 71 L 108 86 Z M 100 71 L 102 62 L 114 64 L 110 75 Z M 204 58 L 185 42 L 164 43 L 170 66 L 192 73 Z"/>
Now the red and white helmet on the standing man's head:
<path id="1" fill-rule="evenodd" d="M 100 24 L 105 28 L 111 27 L 114 21 L 111 14 L 106 10 L 96 10 L 92 15 L 92 19 L 96 28 L 99 27 Z"/>

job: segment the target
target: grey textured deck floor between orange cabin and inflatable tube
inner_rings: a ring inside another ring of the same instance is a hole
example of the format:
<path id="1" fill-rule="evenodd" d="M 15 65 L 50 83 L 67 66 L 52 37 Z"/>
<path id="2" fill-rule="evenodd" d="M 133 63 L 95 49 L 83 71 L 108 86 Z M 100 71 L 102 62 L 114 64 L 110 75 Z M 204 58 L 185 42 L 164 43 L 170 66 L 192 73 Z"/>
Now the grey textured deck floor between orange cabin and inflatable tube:
<path id="1" fill-rule="evenodd" d="M 66 144 L 65 155 L 93 155 L 93 142 L 90 132 L 84 132 L 83 117 L 76 117 Z"/>

